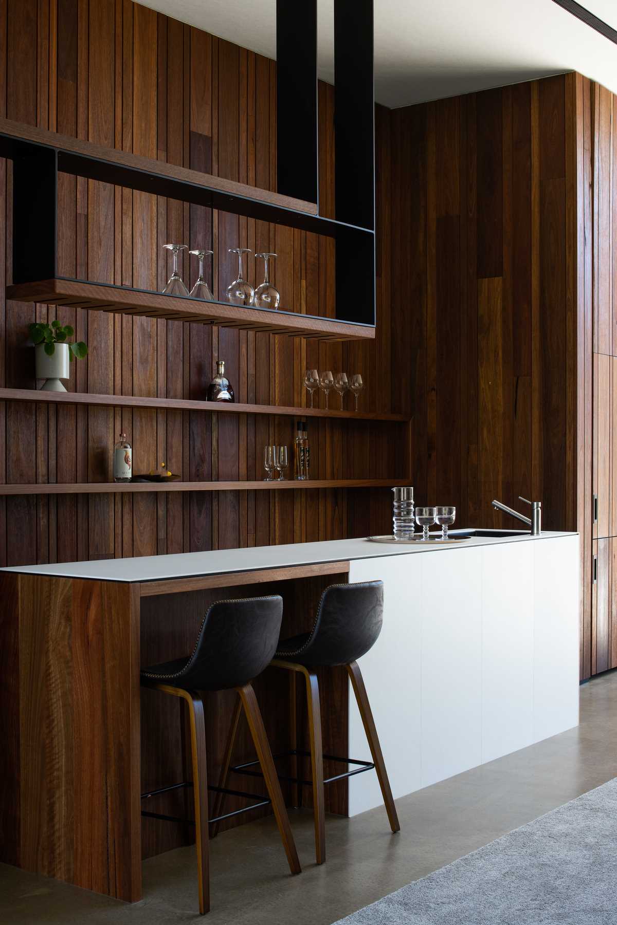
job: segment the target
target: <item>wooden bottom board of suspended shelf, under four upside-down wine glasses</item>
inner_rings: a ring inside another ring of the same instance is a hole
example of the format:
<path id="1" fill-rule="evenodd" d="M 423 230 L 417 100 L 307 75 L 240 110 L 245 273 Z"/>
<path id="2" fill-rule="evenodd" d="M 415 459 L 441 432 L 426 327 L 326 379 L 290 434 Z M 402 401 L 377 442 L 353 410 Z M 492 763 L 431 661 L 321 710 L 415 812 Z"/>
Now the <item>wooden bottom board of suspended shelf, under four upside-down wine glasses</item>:
<path id="1" fill-rule="evenodd" d="M 6 298 L 14 302 L 43 302 L 67 308 L 138 314 L 149 318 L 191 321 L 202 325 L 287 334 L 317 340 L 374 340 L 375 327 L 297 312 L 244 308 L 228 302 L 204 302 L 186 296 L 162 295 L 148 290 L 109 286 L 105 283 L 55 277 L 9 286 Z"/>

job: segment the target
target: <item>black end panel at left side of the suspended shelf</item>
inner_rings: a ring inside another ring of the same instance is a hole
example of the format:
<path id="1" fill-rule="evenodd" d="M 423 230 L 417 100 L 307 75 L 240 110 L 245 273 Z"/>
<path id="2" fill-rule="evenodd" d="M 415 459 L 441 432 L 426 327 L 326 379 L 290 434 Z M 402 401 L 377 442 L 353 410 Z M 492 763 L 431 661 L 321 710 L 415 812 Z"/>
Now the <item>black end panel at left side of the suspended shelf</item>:
<path id="1" fill-rule="evenodd" d="M 56 276 L 56 233 L 56 151 L 19 145 L 13 160 L 13 285 Z"/>

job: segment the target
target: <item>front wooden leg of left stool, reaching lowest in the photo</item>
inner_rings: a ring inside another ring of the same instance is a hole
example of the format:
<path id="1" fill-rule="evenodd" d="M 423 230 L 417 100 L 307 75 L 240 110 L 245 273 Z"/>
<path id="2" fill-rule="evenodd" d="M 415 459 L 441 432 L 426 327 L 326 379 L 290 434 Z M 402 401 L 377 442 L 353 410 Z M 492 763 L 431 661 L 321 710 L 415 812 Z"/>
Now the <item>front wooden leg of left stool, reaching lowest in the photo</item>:
<path id="1" fill-rule="evenodd" d="M 208 845 L 208 782 L 205 764 L 204 702 L 199 694 L 185 692 L 191 711 L 192 790 L 195 801 L 195 845 L 199 879 L 199 911 L 210 911 Z"/>

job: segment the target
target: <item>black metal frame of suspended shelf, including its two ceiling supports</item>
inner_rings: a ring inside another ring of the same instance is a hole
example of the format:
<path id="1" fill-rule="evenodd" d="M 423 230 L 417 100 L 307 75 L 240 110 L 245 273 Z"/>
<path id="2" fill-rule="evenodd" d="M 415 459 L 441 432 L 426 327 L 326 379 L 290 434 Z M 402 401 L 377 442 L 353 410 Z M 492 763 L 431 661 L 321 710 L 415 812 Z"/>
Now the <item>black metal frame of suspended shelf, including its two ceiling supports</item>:
<path id="1" fill-rule="evenodd" d="M 0 155 L 14 162 L 13 284 L 59 277 L 57 175 L 68 173 L 333 238 L 336 319 L 374 327 L 373 0 L 335 0 L 334 11 L 336 219 L 170 178 L 154 161 L 145 170 L 0 134 Z M 316 0 L 277 0 L 278 192 L 309 202 L 318 195 L 316 16 Z"/>

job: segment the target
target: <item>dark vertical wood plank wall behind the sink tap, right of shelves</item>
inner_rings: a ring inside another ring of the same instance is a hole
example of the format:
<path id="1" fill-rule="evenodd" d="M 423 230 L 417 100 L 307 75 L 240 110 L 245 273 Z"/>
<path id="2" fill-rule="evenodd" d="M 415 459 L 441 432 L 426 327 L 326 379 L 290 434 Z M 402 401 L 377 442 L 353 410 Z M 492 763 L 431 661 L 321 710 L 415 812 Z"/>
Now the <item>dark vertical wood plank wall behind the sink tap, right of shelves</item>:
<path id="1" fill-rule="evenodd" d="M 491 501 L 524 512 L 522 495 L 542 501 L 546 529 L 580 531 L 581 677 L 592 671 L 588 82 L 566 74 L 391 113 L 391 306 L 406 306 L 412 330 L 416 503 L 516 528 Z"/>

